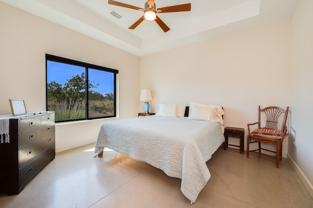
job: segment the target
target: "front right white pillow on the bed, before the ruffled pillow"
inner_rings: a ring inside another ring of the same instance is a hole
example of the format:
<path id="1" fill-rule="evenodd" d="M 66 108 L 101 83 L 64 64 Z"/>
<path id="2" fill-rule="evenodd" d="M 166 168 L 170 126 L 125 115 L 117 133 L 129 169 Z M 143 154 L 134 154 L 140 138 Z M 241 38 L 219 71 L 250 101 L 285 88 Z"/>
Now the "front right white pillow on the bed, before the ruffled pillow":
<path id="1" fill-rule="evenodd" d="M 188 119 L 219 122 L 216 107 L 191 105 Z"/>

